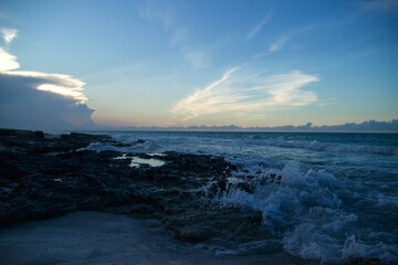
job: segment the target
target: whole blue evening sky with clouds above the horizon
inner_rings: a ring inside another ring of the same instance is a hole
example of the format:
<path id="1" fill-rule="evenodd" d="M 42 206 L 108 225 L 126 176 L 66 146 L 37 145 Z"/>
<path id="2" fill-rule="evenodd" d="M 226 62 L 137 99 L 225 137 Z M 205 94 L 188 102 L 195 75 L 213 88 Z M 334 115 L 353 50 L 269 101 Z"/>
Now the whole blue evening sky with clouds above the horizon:
<path id="1" fill-rule="evenodd" d="M 398 0 L 0 0 L 0 127 L 398 117 Z"/>

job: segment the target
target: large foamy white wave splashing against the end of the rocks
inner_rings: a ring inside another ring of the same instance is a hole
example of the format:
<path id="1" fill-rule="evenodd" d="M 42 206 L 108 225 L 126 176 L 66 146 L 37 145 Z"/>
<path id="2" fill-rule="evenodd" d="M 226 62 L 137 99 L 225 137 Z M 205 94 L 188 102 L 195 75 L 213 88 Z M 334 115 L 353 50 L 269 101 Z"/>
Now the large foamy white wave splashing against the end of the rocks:
<path id="1" fill-rule="evenodd" d="M 287 253 L 327 264 L 353 256 L 398 262 L 397 245 L 357 240 L 360 230 L 369 227 L 360 227 L 358 215 L 345 210 L 338 197 L 344 183 L 332 173 L 312 169 L 302 173 L 300 163 L 290 162 L 249 179 L 235 176 L 228 189 L 212 194 L 212 202 L 261 211 L 264 229 L 280 239 Z M 211 183 L 203 189 L 207 195 L 214 192 Z"/>

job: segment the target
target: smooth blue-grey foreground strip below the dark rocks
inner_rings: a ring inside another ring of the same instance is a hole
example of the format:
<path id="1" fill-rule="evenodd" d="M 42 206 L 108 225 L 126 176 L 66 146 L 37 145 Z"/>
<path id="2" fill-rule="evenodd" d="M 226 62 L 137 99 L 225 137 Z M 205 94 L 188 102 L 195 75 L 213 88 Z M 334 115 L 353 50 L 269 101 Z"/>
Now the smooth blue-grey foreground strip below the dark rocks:
<path id="1" fill-rule="evenodd" d="M 154 220 L 98 212 L 0 230 L 1 264 L 304 264 L 284 253 L 220 255 L 172 239 Z"/>

